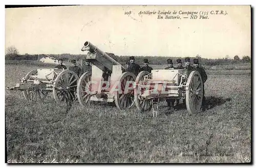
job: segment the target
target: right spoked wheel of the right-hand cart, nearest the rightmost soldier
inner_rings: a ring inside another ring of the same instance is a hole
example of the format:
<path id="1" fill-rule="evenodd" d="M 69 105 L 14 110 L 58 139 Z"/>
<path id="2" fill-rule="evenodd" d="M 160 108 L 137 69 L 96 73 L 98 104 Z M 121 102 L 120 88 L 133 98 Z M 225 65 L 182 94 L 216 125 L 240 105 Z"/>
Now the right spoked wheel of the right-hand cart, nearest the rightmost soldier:
<path id="1" fill-rule="evenodd" d="M 197 113 L 203 100 L 203 81 L 198 71 L 192 71 L 186 83 L 186 106 L 188 113 Z"/>

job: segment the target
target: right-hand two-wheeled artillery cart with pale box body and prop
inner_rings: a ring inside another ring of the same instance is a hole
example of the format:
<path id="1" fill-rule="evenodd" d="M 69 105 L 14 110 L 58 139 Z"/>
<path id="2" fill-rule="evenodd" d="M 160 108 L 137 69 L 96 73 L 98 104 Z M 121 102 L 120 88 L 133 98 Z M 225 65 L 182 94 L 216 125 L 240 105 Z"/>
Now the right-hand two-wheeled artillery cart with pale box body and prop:
<path id="1" fill-rule="evenodd" d="M 137 109 L 152 109 L 153 117 L 157 117 L 162 98 L 183 99 L 188 113 L 194 114 L 201 108 L 203 81 L 198 71 L 192 71 L 188 76 L 186 70 L 178 69 L 141 71 L 136 78 L 134 94 Z"/>

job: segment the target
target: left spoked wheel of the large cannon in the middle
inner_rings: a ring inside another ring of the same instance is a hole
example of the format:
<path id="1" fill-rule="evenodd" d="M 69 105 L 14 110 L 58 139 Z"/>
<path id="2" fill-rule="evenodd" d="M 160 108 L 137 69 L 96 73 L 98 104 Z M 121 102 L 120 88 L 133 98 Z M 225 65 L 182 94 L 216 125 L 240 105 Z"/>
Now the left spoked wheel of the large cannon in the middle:
<path id="1" fill-rule="evenodd" d="M 77 99 L 83 106 L 87 105 L 91 101 L 91 78 L 92 72 L 86 72 L 78 80 L 77 84 Z"/>

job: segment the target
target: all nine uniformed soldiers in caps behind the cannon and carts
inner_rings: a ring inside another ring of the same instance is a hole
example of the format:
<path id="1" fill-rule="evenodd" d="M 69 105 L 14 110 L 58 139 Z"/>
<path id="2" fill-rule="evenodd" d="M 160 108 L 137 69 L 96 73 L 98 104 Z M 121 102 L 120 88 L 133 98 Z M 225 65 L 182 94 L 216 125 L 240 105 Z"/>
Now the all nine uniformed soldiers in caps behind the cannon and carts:
<path id="1" fill-rule="evenodd" d="M 151 71 L 153 70 L 152 67 L 148 66 L 148 59 L 144 59 L 144 67 L 140 67 L 138 64 L 135 63 L 135 58 L 132 56 L 130 57 L 130 61 L 126 62 L 125 65 L 125 69 L 127 72 L 132 72 L 134 73 L 136 76 L 139 74 L 139 72 L 141 71 L 148 71 L 151 73 Z M 167 67 L 164 69 L 185 69 L 186 70 L 186 76 L 188 77 L 190 72 L 196 70 L 201 74 L 202 80 L 203 80 L 203 101 L 202 101 L 202 109 L 203 111 L 205 111 L 205 96 L 204 96 L 204 83 L 207 80 L 207 74 L 205 73 L 205 70 L 199 66 L 199 60 L 198 59 L 194 59 L 193 66 L 190 66 L 190 58 L 185 58 L 185 67 L 182 66 L 182 60 L 181 59 L 177 59 L 176 63 L 177 66 L 174 67 L 173 66 L 173 60 L 168 59 L 167 60 Z M 59 65 L 57 65 L 55 68 L 58 69 L 67 69 L 67 67 L 65 65 L 63 65 L 63 61 L 60 59 L 58 61 Z M 69 67 L 69 70 L 74 71 L 78 77 L 80 77 L 84 72 L 87 71 L 92 71 L 92 66 L 90 65 L 90 62 L 86 60 L 85 65 L 82 65 L 81 68 L 78 67 L 76 65 L 76 60 L 71 60 L 72 66 Z M 175 102 L 176 102 L 176 106 L 178 106 L 179 104 L 179 100 L 174 100 L 174 99 L 167 99 L 167 106 L 169 106 L 170 108 L 174 108 L 175 107 Z M 185 104 L 185 101 L 184 101 Z"/>

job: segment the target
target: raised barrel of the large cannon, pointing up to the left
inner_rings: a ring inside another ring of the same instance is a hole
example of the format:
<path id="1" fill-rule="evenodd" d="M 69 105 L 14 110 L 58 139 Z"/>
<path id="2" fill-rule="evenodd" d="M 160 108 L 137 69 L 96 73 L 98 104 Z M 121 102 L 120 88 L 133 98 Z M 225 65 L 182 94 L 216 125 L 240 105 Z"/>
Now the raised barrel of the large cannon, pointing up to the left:
<path id="1" fill-rule="evenodd" d="M 99 48 L 97 48 L 95 45 L 93 45 L 92 43 L 90 43 L 89 41 L 86 41 L 84 43 L 84 46 L 82 47 L 81 49 L 82 51 L 90 51 L 91 53 L 98 53 L 100 54 L 101 57 L 103 57 L 104 59 L 106 59 L 110 64 L 111 66 L 109 65 L 108 66 L 108 63 L 105 62 L 104 60 L 101 60 L 101 59 L 96 59 L 96 58 L 91 58 L 91 57 L 88 57 L 87 56 L 87 59 L 88 60 L 94 60 L 92 61 L 92 63 L 98 67 L 100 67 L 99 64 L 97 64 L 97 62 L 100 62 L 101 65 L 103 65 L 105 68 L 109 69 L 110 71 L 112 71 L 112 65 L 120 65 L 121 68 L 122 68 L 122 71 L 125 71 L 125 68 L 120 64 L 118 63 L 116 60 L 114 60 L 113 58 L 111 58 L 108 54 L 106 54 L 105 52 L 101 51 Z M 97 60 L 97 61 L 95 61 Z"/>

